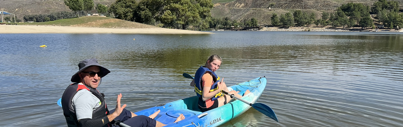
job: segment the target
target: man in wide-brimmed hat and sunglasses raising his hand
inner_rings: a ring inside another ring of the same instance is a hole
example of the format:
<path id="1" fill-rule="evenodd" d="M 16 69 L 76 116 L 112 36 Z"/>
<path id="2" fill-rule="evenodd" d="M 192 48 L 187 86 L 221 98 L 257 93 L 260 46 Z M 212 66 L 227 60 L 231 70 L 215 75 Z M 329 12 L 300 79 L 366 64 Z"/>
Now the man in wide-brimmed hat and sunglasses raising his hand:
<path id="1" fill-rule="evenodd" d="M 162 127 L 164 124 L 154 120 L 160 111 L 147 116 L 137 116 L 120 106 L 122 94 L 118 95 L 116 109 L 108 111 L 104 94 L 98 88 L 101 78 L 110 71 L 98 64 L 97 59 L 85 59 L 79 64 L 79 71 L 71 77 L 71 82 L 62 96 L 63 115 L 69 127 L 117 127 L 111 122 L 119 120 L 131 127 Z M 180 115 L 175 121 L 185 119 Z M 113 123 L 113 122 L 112 122 Z"/>

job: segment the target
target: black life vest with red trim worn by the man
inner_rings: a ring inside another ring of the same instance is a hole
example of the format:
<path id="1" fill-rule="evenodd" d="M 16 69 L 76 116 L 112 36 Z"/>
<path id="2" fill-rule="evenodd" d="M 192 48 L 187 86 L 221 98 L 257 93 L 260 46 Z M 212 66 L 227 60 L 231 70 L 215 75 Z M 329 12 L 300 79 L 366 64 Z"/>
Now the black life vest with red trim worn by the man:
<path id="1" fill-rule="evenodd" d="M 63 109 L 63 115 L 66 118 L 67 126 L 68 127 L 81 127 L 77 120 L 77 115 L 74 111 L 72 102 L 73 102 L 73 97 L 79 90 L 82 89 L 87 89 L 89 92 L 91 92 L 93 95 L 95 95 L 98 99 L 101 101 L 100 107 L 92 111 L 92 119 L 100 119 L 105 117 L 106 115 L 109 115 L 108 107 L 106 107 L 105 103 L 105 98 L 104 94 L 100 93 L 98 90 L 93 89 L 91 87 L 86 87 L 85 85 L 81 85 L 78 83 L 73 83 L 69 85 L 66 90 L 64 90 L 63 96 L 62 96 L 62 109 Z M 109 121 L 105 121 L 108 124 L 106 124 L 104 127 L 111 127 Z"/>

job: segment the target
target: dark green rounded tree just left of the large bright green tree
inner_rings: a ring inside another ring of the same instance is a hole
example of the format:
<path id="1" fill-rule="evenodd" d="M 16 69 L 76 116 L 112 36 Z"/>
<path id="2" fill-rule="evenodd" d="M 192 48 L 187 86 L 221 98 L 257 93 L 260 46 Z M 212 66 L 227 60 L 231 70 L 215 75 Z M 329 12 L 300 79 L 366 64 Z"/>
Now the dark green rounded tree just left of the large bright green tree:
<path id="1" fill-rule="evenodd" d="M 134 21 L 133 14 L 136 8 L 136 0 L 116 0 L 110 5 L 109 11 L 115 15 L 115 18 Z"/>

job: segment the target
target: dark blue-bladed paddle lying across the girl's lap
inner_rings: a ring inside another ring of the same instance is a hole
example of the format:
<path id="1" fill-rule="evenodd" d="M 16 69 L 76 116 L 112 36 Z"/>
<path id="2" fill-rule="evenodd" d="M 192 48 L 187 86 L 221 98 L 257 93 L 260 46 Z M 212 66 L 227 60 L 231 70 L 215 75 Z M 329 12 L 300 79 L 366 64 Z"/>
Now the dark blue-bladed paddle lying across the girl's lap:
<path id="1" fill-rule="evenodd" d="M 182 75 L 185 78 L 194 79 L 193 76 L 191 76 L 190 74 L 183 73 Z M 234 96 L 233 94 L 230 95 L 230 94 L 228 94 L 228 92 L 225 92 L 224 90 L 221 90 L 221 92 L 223 92 L 224 94 L 227 94 L 227 95 L 229 95 L 229 96 L 231 96 L 231 97 L 233 97 L 233 98 L 235 98 L 237 100 L 240 100 L 240 101 L 242 101 L 242 102 L 244 102 L 246 104 L 249 104 L 251 107 L 253 107 L 253 109 L 256 109 L 260 113 L 263 113 L 264 115 L 266 115 L 266 116 L 268 116 L 268 117 L 270 117 L 270 118 L 272 118 L 272 119 L 274 119 L 275 121 L 278 122 L 277 116 L 274 113 L 273 109 L 270 108 L 269 106 L 267 106 L 266 104 L 262 104 L 262 103 L 252 104 L 252 103 L 249 103 L 249 102 L 247 102 L 245 100 L 242 100 L 241 98 L 238 98 L 238 97 Z"/>

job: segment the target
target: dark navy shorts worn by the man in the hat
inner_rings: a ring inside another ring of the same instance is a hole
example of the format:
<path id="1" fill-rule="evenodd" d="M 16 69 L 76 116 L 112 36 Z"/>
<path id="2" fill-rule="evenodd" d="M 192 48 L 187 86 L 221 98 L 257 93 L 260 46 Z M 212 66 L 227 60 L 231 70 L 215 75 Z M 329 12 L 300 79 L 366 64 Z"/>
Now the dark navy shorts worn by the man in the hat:
<path id="1" fill-rule="evenodd" d="M 110 113 L 113 113 L 115 110 L 111 110 Z M 151 119 L 150 117 L 144 115 L 138 115 L 135 117 L 131 117 L 131 112 L 123 109 L 122 113 L 115 120 L 120 120 L 122 123 L 125 123 L 131 127 L 155 127 L 157 121 L 155 119 Z M 112 126 L 119 127 L 119 126 Z"/>

